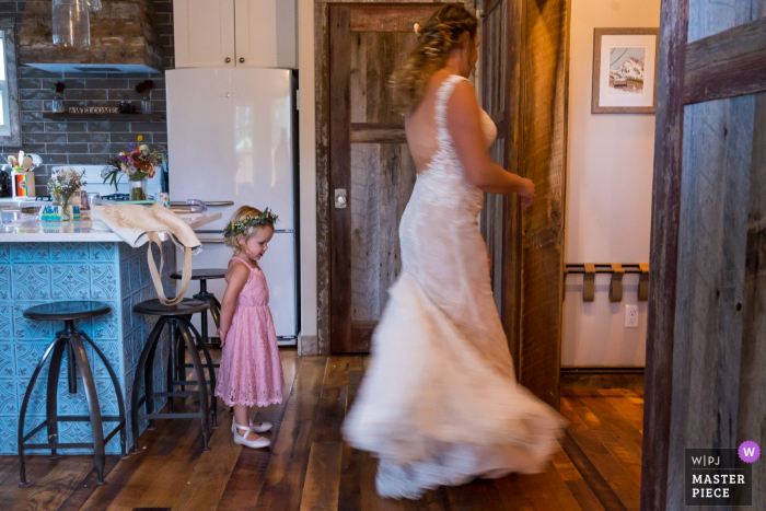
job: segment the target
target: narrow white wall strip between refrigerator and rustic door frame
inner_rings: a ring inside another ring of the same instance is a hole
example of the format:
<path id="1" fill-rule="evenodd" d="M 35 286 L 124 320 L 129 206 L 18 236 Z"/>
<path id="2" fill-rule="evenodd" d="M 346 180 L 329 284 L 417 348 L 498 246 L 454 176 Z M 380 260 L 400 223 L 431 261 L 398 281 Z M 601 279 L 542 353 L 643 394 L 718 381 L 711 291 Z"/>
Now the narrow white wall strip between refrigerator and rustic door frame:
<path id="1" fill-rule="evenodd" d="M 314 0 L 298 0 L 300 89 L 301 335 L 316 335 L 316 137 L 314 135 Z"/>

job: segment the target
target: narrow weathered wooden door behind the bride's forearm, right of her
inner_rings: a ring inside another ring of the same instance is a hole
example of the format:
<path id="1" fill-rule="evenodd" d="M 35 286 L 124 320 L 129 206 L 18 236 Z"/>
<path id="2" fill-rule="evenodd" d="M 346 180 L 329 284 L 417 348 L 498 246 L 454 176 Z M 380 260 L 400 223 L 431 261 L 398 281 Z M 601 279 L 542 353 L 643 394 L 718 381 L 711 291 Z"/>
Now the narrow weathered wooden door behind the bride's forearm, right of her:
<path id="1" fill-rule="evenodd" d="M 510 11 L 509 11 L 510 7 Z M 518 173 L 518 86 L 509 76 L 518 44 L 511 34 L 509 15 L 513 0 L 484 0 L 481 20 L 481 106 L 498 128 L 489 149 L 492 162 Z M 514 83 L 515 85 L 515 83 Z M 512 90 L 513 89 L 513 90 Z M 502 321 L 509 348 L 519 373 L 519 318 L 521 241 L 520 204 L 517 196 L 485 194 L 479 228 L 492 259 L 491 282 L 495 304 Z"/>

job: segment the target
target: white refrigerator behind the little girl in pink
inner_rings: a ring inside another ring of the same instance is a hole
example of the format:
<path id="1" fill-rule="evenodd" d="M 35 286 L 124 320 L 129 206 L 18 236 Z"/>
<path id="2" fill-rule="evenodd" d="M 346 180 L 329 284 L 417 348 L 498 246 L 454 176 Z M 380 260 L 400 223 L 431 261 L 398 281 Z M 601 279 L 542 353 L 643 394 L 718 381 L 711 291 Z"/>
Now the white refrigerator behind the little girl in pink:
<path id="1" fill-rule="evenodd" d="M 200 68 L 165 73 L 171 201 L 233 201 L 209 207 L 223 218 L 197 232 L 202 252 L 194 268 L 227 268 L 232 249 L 222 230 L 243 205 L 279 216 L 259 262 L 280 345 L 294 344 L 298 303 L 297 77 L 283 69 Z M 181 260 L 181 259 L 178 259 Z M 208 280 L 220 301 L 225 281 Z M 187 297 L 199 291 L 192 281 Z M 195 316 L 199 328 L 199 317 Z M 208 335 L 216 325 L 208 318 Z"/>

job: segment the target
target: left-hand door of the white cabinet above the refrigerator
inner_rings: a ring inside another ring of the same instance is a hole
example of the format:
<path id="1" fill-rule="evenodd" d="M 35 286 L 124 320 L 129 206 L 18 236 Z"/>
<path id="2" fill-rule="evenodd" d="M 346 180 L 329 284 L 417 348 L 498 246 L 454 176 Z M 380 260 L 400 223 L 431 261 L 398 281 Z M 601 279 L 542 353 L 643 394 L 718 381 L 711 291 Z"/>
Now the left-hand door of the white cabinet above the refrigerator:
<path id="1" fill-rule="evenodd" d="M 234 0 L 174 0 L 173 16 L 176 68 L 235 66 Z"/>

